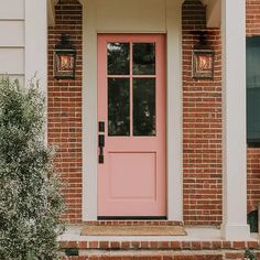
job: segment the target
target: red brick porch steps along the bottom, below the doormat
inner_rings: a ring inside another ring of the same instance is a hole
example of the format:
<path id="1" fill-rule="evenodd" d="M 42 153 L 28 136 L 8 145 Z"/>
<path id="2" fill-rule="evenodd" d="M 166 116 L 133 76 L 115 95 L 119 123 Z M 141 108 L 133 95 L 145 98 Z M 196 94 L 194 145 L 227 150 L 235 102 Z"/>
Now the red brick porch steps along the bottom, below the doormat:
<path id="1" fill-rule="evenodd" d="M 260 259 L 260 241 L 63 241 L 64 260 L 225 260 Z M 74 256 L 74 257 L 65 257 Z"/>

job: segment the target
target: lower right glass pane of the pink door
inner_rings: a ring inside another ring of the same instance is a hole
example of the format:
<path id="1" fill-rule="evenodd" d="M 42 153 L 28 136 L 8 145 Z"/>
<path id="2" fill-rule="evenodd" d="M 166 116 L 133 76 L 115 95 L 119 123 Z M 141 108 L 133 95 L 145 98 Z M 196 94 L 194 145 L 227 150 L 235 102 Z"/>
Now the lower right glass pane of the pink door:
<path id="1" fill-rule="evenodd" d="M 133 78 L 133 136 L 155 136 L 155 78 Z"/>

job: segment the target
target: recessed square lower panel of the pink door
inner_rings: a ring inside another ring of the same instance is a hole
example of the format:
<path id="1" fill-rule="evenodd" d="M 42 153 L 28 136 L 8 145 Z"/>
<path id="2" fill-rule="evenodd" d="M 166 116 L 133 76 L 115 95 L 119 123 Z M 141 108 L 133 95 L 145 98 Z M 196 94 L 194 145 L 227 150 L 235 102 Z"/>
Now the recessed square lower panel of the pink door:
<path id="1" fill-rule="evenodd" d="M 155 153 L 109 153 L 110 194 L 112 199 L 155 199 Z M 119 163 L 123 162 L 123 163 Z M 140 182 L 140 165 L 145 185 Z M 122 185 L 127 183 L 128 185 Z M 133 193 L 134 187 L 134 193 Z"/>

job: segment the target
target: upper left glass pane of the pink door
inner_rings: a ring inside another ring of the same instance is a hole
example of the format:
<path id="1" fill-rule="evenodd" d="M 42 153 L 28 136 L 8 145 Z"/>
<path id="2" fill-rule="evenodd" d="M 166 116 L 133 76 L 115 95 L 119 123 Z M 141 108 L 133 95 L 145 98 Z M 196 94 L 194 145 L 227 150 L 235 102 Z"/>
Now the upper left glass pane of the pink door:
<path id="1" fill-rule="evenodd" d="M 130 74 L 130 44 L 108 43 L 108 75 Z"/>

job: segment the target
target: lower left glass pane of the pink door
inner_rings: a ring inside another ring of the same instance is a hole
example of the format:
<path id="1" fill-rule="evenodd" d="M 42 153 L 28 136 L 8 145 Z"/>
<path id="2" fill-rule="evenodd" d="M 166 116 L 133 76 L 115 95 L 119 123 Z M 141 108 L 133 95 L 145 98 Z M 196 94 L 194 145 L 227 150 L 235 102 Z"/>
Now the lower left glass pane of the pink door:
<path id="1" fill-rule="evenodd" d="M 108 136 L 130 136 L 129 78 L 108 78 Z"/>

